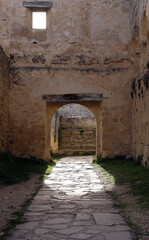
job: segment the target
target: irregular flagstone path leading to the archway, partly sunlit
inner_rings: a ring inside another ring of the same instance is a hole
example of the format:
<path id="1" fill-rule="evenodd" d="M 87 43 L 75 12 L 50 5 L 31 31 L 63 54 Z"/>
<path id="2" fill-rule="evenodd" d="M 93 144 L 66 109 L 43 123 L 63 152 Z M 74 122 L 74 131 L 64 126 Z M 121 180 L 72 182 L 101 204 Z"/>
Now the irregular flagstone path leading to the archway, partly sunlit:
<path id="1" fill-rule="evenodd" d="M 104 192 L 92 157 L 61 159 L 11 240 L 132 240 L 129 227 Z"/>

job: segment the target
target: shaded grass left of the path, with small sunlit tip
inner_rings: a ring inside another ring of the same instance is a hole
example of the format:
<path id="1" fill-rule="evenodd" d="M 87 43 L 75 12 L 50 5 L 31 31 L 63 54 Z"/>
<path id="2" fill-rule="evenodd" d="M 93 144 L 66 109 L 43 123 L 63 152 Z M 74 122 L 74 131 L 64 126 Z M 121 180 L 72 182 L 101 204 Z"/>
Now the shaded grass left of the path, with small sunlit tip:
<path id="1" fill-rule="evenodd" d="M 9 153 L 0 153 L 0 184 L 11 185 L 27 181 L 31 173 L 49 174 L 54 166 L 51 160 L 17 158 Z"/>

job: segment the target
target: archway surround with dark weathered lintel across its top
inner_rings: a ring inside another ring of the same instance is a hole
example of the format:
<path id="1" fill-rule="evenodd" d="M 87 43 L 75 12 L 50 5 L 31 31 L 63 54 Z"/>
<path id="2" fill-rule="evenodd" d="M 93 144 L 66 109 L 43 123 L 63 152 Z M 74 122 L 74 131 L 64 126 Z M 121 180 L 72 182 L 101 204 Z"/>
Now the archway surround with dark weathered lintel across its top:
<path id="1" fill-rule="evenodd" d="M 44 95 L 46 101 L 46 137 L 45 137 L 45 161 L 50 159 L 51 146 L 51 121 L 54 113 L 65 104 L 79 103 L 87 107 L 95 116 L 96 127 L 96 156 L 101 154 L 101 94 L 63 94 L 63 95 Z"/>

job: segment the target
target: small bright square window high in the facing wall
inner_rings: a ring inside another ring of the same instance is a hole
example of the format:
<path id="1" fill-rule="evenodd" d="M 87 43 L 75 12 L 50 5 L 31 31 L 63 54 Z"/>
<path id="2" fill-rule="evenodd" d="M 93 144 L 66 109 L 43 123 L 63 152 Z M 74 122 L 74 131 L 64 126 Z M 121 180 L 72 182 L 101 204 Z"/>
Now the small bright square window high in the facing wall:
<path id="1" fill-rule="evenodd" d="M 47 28 L 46 12 L 32 12 L 32 28 L 33 29 Z"/>

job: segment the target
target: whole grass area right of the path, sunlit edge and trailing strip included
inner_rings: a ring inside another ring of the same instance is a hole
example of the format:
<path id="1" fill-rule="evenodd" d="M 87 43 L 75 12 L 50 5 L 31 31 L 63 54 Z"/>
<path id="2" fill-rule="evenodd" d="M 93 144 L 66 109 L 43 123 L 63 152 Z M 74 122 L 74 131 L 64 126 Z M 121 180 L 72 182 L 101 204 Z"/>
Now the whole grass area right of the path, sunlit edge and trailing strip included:
<path id="1" fill-rule="evenodd" d="M 132 194 L 135 201 L 138 202 L 138 206 L 141 209 L 144 208 L 144 210 L 148 210 L 149 169 L 141 166 L 139 162 L 140 161 L 127 159 L 123 156 L 115 158 L 99 157 L 93 159 L 93 164 L 100 168 L 100 178 L 105 184 L 106 192 L 115 200 L 114 206 L 120 210 L 126 223 L 133 229 L 136 240 L 143 236 L 143 229 L 132 220 L 131 213 L 129 211 L 131 205 L 129 202 L 123 201 L 123 198 L 121 198 L 123 193 L 114 191 L 112 186 L 114 187 L 114 184 L 128 184 L 129 188 L 126 194 Z"/>

